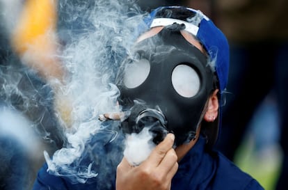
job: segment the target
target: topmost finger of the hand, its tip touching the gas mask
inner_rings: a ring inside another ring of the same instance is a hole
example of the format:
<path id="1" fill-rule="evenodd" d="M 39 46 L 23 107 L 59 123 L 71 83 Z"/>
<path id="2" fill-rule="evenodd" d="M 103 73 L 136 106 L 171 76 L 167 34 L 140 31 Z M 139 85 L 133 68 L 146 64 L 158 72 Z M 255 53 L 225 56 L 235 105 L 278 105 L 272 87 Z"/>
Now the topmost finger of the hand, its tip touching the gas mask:
<path id="1" fill-rule="evenodd" d="M 159 143 L 159 145 L 154 148 L 149 156 L 148 160 L 152 160 L 153 162 L 150 163 L 150 166 L 157 167 L 161 163 L 162 159 L 166 156 L 167 152 L 173 149 L 175 136 L 174 134 L 167 134 L 166 138 Z"/>

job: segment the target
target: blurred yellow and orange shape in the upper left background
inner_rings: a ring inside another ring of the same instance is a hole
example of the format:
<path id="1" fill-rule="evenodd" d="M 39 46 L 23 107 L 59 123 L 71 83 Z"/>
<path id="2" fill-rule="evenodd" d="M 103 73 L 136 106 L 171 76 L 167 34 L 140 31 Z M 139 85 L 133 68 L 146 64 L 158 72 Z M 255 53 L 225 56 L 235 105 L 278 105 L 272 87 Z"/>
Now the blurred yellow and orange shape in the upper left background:
<path id="1" fill-rule="evenodd" d="M 56 58 L 57 1 L 28 0 L 12 34 L 15 52 L 26 65 L 45 79 L 61 79 L 63 71 Z"/>

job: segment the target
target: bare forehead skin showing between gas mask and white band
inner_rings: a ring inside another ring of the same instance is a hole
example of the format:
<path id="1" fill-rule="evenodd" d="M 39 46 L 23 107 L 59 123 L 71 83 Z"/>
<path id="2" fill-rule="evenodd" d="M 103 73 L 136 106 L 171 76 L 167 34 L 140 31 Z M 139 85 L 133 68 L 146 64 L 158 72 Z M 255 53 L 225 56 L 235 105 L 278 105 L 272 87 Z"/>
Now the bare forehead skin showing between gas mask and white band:
<path id="1" fill-rule="evenodd" d="M 151 38 L 154 35 L 157 35 L 157 33 L 159 33 L 163 28 L 164 28 L 163 26 L 157 26 L 157 27 L 150 29 L 149 31 L 146 31 L 145 33 L 140 35 L 140 37 L 137 39 L 136 42 L 141 42 L 142 40 L 145 40 L 147 38 Z M 187 31 L 181 31 L 181 34 L 189 43 L 197 47 L 202 53 L 205 53 L 205 50 L 203 49 L 200 42 L 196 40 L 195 37 L 191 35 L 191 33 Z"/>

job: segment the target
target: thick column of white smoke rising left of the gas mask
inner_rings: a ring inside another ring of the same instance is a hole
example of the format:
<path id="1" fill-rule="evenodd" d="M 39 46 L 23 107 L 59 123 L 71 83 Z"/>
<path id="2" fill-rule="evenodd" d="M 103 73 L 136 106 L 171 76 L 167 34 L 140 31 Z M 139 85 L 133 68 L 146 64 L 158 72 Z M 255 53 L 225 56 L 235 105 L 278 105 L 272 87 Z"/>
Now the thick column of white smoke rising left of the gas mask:
<path id="1" fill-rule="evenodd" d="M 72 104 L 72 126 L 65 131 L 65 148 L 51 158 L 45 153 L 45 159 L 49 173 L 84 183 L 105 177 L 122 157 L 119 122 L 106 124 L 97 117 L 121 109 L 113 82 L 142 15 L 133 1 L 61 1 L 60 8 L 68 15 L 60 18 L 59 35 L 65 41 L 61 61 L 68 76 L 62 90 Z M 104 150 L 113 141 L 119 148 L 111 145 L 111 150 Z"/>

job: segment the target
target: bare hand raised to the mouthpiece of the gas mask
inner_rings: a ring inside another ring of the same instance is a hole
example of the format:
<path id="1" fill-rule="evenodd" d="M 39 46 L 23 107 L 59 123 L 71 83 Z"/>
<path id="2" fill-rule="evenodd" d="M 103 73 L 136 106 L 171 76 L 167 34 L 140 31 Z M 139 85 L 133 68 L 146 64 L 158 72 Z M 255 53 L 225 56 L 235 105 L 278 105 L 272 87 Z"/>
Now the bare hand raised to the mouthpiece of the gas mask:
<path id="1" fill-rule="evenodd" d="M 117 190 L 168 190 L 178 169 L 173 149 L 175 136 L 168 134 L 139 166 L 131 166 L 125 157 L 117 168 Z"/>

